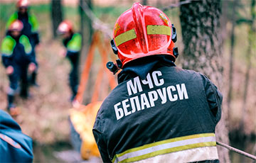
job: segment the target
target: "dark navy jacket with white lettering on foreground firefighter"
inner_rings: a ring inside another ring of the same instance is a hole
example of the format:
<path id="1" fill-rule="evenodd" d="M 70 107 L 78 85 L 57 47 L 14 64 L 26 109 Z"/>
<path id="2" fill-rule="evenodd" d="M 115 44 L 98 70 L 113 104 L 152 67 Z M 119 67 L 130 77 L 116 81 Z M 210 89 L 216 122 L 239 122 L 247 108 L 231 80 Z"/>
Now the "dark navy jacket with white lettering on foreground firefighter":
<path id="1" fill-rule="evenodd" d="M 189 152 L 192 147 L 199 151 L 214 147 L 214 152 L 213 148 L 209 152 L 214 157 L 206 159 L 218 161 L 214 133 L 220 120 L 222 95 L 217 87 L 203 74 L 175 67 L 166 58 L 146 61 L 144 66 L 137 62 L 139 67 L 124 68 L 119 74 L 119 85 L 97 113 L 92 131 L 103 162 L 150 160 L 159 153 L 164 156 L 180 150 Z M 192 144 L 183 148 L 154 148 L 157 143 L 163 146 L 168 141 L 166 145 L 187 140 Z M 153 148 L 146 148 L 150 146 Z M 151 155 L 140 154 L 146 150 L 152 150 Z M 199 157 L 191 161 L 206 160 L 203 154 Z"/>

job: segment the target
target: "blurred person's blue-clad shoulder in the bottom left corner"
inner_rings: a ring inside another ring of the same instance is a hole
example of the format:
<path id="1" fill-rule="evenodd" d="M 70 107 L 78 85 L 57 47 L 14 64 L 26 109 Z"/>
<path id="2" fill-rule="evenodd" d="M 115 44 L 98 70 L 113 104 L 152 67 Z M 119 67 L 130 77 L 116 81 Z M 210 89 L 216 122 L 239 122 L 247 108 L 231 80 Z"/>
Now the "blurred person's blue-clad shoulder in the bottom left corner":
<path id="1" fill-rule="evenodd" d="M 0 109 L 0 162 L 33 162 L 32 139 Z"/>

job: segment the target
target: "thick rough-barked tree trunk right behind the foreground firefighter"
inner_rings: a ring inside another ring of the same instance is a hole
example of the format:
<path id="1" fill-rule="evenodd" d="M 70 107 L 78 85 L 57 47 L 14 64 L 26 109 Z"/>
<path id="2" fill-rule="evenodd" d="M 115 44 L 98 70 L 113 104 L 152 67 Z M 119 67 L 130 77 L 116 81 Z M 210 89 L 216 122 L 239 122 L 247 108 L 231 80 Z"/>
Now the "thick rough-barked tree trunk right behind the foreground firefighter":
<path id="1" fill-rule="evenodd" d="M 182 66 L 206 74 L 218 88 L 222 89 L 223 64 L 222 39 L 220 33 L 220 1 L 191 1 L 181 6 L 181 29 L 184 50 Z M 227 111 L 216 128 L 217 140 L 229 144 L 226 127 Z M 228 150 L 218 147 L 220 162 L 230 162 Z"/>

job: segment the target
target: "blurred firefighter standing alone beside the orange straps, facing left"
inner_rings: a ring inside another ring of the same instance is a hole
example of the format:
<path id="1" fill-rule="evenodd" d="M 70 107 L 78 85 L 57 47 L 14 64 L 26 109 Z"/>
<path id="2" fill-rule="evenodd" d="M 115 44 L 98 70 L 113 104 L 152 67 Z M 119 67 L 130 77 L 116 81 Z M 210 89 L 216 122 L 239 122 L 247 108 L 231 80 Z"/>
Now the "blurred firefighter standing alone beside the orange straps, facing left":
<path id="1" fill-rule="evenodd" d="M 79 84 L 79 57 L 82 45 L 82 37 L 80 33 L 75 33 L 73 30 L 72 23 L 70 21 L 63 21 L 58 26 L 57 33 L 63 38 L 63 45 L 65 46 L 65 52 L 61 55 L 68 57 L 71 64 L 71 70 L 69 74 L 69 84 L 72 91 L 70 101 L 73 101 L 75 95 L 78 92 Z"/>

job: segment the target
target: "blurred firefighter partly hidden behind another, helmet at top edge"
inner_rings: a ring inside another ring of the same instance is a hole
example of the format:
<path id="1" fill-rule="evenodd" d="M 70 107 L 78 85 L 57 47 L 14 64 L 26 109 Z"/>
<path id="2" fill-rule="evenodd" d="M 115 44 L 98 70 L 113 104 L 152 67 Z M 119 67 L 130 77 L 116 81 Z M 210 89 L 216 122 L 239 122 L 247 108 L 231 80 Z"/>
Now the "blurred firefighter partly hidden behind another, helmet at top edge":
<path id="1" fill-rule="evenodd" d="M 6 29 L 8 30 L 11 23 L 16 20 L 20 20 L 23 23 L 23 29 L 21 31 L 21 34 L 26 35 L 28 37 L 32 46 L 31 56 L 33 57 L 33 60 L 35 60 L 36 65 L 38 65 L 38 63 L 36 62 L 36 50 L 35 50 L 36 46 L 40 42 L 39 35 L 38 35 L 37 18 L 33 13 L 30 13 L 28 11 L 28 7 L 29 7 L 28 0 L 18 0 L 16 6 L 18 11 L 16 11 L 11 15 L 11 17 L 6 23 Z M 38 84 L 36 83 L 36 74 L 37 74 L 37 69 L 33 71 L 29 79 L 30 84 L 32 86 L 38 86 Z"/>

